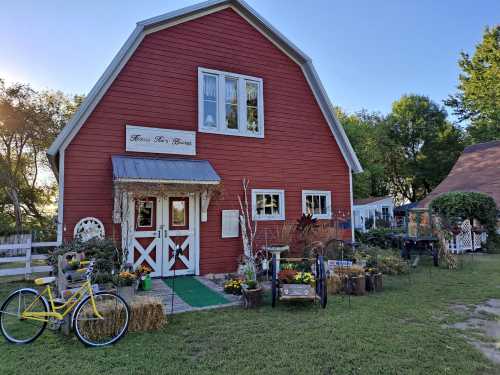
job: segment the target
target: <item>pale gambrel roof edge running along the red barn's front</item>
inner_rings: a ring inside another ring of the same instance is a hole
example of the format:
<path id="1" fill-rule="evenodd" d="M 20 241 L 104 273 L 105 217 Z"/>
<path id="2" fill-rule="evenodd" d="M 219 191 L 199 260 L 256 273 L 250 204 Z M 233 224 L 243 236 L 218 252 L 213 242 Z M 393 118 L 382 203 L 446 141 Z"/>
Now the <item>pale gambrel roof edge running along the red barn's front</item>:
<path id="1" fill-rule="evenodd" d="M 59 153 L 66 149 L 68 144 L 78 133 L 94 108 L 106 93 L 107 89 L 111 86 L 114 79 L 120 73 L 121 69 L 125 66 L 128 59 L 132 56 L 146 35 L 226 8 L 232 8 L 240 16 L 245 18 L 253 27 L 266 36 L 275 46 L 287 54 L 302 68 L 304 76 L 311 87 L 318 105 L 321 108 L 323 116 L 330 126 L 332 134 L 337 141 L 347 165 L 354 173 L 362 172 L 363 169 L 361 164 L 359 163 L 356 153 L 354 152 L 344 129 L 335 115 L 333 106 L 331 105 L 326 91 L 319 80 L 311 59 L 242 0 L 210 0 L 138 22 L 135 30 L 105 70 L 104 74 L 92 88 L 79 110 L 75 113 L 73 118 L 68 122 L 47 151 L 47 155 L 51 160 L 54 172 L 56 172 L 56 174 L 58 172 L 57 159 Z"/>

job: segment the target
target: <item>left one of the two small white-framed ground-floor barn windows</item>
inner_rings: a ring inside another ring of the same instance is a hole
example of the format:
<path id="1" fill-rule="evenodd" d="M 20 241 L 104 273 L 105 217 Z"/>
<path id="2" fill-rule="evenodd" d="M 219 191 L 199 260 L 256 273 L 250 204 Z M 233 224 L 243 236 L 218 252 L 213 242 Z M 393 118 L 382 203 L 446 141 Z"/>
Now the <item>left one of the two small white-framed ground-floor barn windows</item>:
<path id="1" fill-rule="evenodd" d="M 253 220 L 285 220 L 285 191 L 252 189 Z"/>

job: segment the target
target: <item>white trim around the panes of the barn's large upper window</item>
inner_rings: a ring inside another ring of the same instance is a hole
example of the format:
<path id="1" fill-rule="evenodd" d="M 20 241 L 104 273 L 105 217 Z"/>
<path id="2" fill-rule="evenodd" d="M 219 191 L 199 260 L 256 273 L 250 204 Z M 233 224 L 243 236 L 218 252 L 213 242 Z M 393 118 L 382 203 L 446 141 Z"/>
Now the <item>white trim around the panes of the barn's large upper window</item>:
<path id="1" fill-rule="evenodd" d="M 203 74 L 217 75 L 217 114 L 215 128 L 203 126 Z M 225 127 L 226 107 L 225 107 L 225 85 L 224 77 L 238 78 L 238 129 L 227 129 Z M 247 130 L 247 110 L 246 110 L 246 90 L 245 80 L 255 81 L 259 84 L 259 93 L 257 98 L 257 116 L 259 119 L 259 131 L 251 132 Z M 198 131 L 201 133 L 213 133 L 223 135 L 234 135 L 239 137 L 264 138 L 264 82 L 262 78 L 213 70 L 207 68 L 198 68 Z"/>

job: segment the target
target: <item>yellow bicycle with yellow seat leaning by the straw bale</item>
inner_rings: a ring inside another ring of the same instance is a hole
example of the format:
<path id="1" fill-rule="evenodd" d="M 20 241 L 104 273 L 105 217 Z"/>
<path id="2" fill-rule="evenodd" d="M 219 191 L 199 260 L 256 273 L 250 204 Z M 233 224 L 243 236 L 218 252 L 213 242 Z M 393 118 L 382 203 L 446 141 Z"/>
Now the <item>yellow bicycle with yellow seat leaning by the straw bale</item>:
<path id="1" fill-rule="evenodd" d="M 53 297 L 51 284 L 55 277 L 35 280 L 45 286 L 42 293 L 22 288 L 11 293 L 0 308 L 0 329 L 7 341 L 29 344 L 49 325 L 56 330 L 71 315 L 76 337 L 88 346 L 116 343 L 127 332 L 130 309 L 125 300 L 111 292 L 95 292 L 91 284 L 93 262 L 86 269 L 87 281 L 64 300 Z"/>

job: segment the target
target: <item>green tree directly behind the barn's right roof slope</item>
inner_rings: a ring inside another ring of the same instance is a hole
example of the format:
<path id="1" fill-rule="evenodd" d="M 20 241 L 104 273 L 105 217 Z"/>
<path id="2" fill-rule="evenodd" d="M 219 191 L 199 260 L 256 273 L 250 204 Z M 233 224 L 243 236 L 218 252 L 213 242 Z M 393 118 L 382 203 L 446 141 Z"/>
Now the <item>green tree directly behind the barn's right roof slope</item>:
<path id="1" fill-rule="evenodd" d="M 354 198 L 387 195 L 389 190 L 379 147 L 380 127 L 384 118 L 367 111 L 346 114 L 336 108 L 336 112 L 364 170 L 353 176 Z"/>

